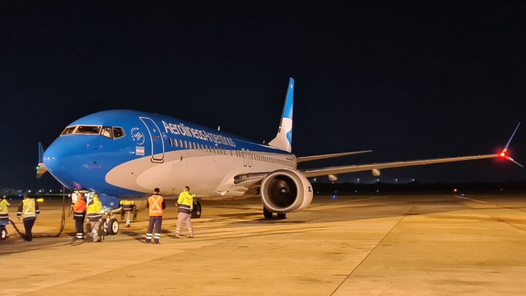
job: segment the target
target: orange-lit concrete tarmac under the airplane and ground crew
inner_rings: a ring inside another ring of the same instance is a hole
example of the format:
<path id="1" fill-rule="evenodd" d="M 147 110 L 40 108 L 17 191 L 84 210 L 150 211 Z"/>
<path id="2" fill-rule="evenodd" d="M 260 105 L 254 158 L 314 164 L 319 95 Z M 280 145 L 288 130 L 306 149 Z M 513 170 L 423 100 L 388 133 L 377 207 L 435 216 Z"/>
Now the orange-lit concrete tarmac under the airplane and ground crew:
<path id="1" fill-rule="evenodd" d="M 94 243 L 72 216 L 54 237 L 62 203 L 46 200 L 32 242 L 11 225 L 0 241 L 0 295 L 526 294 L 526 194 L 315 196 L 284 220 L 258 199 L 201 204 L 194 239 L 174 238 L 168 202 L 146 245 L 145 210 Z"/>

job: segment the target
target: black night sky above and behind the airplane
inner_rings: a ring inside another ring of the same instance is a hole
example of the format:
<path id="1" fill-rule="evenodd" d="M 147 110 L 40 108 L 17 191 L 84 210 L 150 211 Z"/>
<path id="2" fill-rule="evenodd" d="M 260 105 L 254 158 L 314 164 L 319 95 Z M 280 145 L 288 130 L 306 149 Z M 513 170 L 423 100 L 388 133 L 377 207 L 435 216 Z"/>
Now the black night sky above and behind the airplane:
<path id="1" fill-rule="evenodd" d="M 133 109 L 253 139 L 295 78 L 292 152 L 373 150 L 310 167 L 498 152 L 526 164 L 526 3 L 0 3 L 0 187 L 35 179 L 79 117 Z M 304 166 L 306 167 L 306 166 Z M 376 180 L 370 172 L 342 181 Z M 384 182 L 525 180 L 482 160 L 383 170 Z M 319 180 L 327 180 L 318 178 Z"/>

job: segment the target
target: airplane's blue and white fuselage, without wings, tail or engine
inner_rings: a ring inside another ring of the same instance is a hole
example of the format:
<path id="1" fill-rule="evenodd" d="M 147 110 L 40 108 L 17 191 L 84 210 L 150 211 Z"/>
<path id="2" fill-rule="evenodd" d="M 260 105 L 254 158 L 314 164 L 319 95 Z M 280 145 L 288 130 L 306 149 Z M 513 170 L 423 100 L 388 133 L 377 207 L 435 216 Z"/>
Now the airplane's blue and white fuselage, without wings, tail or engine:
<path id="1" fill-rule="evenodd" d="M 296 169 L 296 156 L 174 117 L 110 110 L 69 124 L 46 149 L 47 170 L 69 189 L 144 198 L 154 188 L 176 195 L 184 186 L 202 199 L 257 194 L 234 177 Z M 256 186 L 257 187 L 257 186 Z"/>

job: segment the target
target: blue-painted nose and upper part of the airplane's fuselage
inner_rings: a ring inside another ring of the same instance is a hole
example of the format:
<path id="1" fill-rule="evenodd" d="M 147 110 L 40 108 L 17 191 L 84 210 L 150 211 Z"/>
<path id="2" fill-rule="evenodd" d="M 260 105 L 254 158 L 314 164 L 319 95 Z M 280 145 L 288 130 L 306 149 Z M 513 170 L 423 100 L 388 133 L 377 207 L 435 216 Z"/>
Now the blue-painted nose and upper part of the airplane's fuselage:
<path id="1" fill-rule="evenodd" d="M 141 157 L 162 163 L 165 153 L 195 149 L 195 145 L 225 151 L 244 149 L 289 154 L 174 117 L 109 110 L 69 124 L 47 148 L 43 160 L 47 170 L 69 189 L 86 188 L 112 196 L 143 196 L 143 192 L 108 184 L 106 174 L 120 164 Z"/>

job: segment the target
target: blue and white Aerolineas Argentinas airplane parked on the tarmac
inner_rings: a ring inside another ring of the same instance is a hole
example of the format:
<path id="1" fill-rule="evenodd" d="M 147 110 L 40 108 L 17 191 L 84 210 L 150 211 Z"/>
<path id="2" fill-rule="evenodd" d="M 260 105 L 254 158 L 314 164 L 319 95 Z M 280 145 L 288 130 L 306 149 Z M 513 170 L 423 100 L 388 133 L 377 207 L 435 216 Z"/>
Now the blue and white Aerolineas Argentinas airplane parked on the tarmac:
<path id="1" fill-rule="evenodd" d="M 341 173 L 369 170 L 379 175 L 381 169 L 391 167 L 494 157 L 515 162 L 507 152 L 513 132 L 498 154 L 298 170 L 300 162 L 370 151 L 292 154 L 293 95 L 290 78 L 278 133 L 268 144 L 165 115 L 132 110 L 90 114 L 69 124 L 45 152 L 39 143 L 37 176 L 49 171 L 68 189 L 98 192 L 103 204 L 112 208 L 118 207 L 118 199 L 144 199 L 154 188 L 176 196 L 189 186 L 196 196 L 193 216 L 201 214 L 200 199 L 261 196 L 265 218 L 273 213 L 285 218 L 312 201 L 307 177 L 328 175 L 336 180 Z"/>

